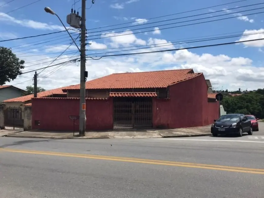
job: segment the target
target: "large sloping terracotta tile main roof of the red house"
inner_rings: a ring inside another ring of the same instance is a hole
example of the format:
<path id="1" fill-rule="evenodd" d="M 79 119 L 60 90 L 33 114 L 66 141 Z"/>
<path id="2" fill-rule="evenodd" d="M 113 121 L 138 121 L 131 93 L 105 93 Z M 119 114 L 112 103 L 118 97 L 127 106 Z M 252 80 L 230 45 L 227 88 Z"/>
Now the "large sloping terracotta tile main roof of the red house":
<path id="1" fill-rule="evenodd" d="M 192 69 L 115 73 L 86 82 L 86 89 L 162 88 L 199 75 L 202 73 L 193 73 Z M 70 89 L 80 89 L 80 84 L 63 90 Z"/>

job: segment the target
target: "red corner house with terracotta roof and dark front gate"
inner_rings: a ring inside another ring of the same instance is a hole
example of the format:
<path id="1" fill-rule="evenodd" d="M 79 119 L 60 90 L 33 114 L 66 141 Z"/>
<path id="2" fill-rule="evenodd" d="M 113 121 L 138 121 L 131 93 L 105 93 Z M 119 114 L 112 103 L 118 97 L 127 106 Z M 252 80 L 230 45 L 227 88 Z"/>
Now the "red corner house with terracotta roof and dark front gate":
<path id="1" fill-rule="evenodd" d="M 115 73 L 86 82 L 86 129 L 205 126 L 218 118 L 219 103 L 203 73 L 193 69 Z M 67 97 L 32 99 L 32 129 L 72 130 L 79 115 L 80 85 Z M 78 122 L 76 129 L 78 128 Z"/>

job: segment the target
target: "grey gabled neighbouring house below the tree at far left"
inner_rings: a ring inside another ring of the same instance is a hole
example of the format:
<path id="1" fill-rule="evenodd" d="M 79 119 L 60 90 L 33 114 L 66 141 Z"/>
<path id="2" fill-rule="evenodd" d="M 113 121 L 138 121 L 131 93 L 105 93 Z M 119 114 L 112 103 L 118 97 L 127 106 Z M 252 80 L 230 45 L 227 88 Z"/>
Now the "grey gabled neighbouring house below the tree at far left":
<path id="1" fill-rule="evenodd" d="M 12 85 L 1 85 L 0 86 L 0 102 L 8 100 L 10 98 L 20 97 L 25 90 L 19 89 Z"/>

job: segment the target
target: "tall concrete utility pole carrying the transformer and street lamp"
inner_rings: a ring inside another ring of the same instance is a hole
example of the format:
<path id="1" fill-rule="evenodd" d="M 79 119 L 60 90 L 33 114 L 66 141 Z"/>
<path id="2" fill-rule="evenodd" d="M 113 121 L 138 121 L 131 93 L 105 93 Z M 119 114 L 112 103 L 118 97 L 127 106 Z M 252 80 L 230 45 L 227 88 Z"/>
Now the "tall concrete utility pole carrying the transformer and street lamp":
<path id="1" fill-rule="evenodd" d="M 86 0 L 82 0 L 82 21 L 81 21 L 81 79 L 80 79 L 80 117 L 79 117 L 79 135 L 85 136 L 86 125 L 86 105 L 85 105 L 85 41 L 86 41 L 86 27 L 85 27 L 85 10 Z"/>

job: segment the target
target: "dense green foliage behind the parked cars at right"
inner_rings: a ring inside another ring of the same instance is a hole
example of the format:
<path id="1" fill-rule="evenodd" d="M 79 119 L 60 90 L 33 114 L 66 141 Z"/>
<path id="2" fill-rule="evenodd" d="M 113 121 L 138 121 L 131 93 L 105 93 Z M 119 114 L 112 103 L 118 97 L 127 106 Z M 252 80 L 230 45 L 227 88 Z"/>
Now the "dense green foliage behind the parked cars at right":
<path id="1" fill-rule="evenodd" d="M 264 89 L 234 97 L 224 97 L 222 104 L 227 113 L 252 114 L 264 118 Z"/>

